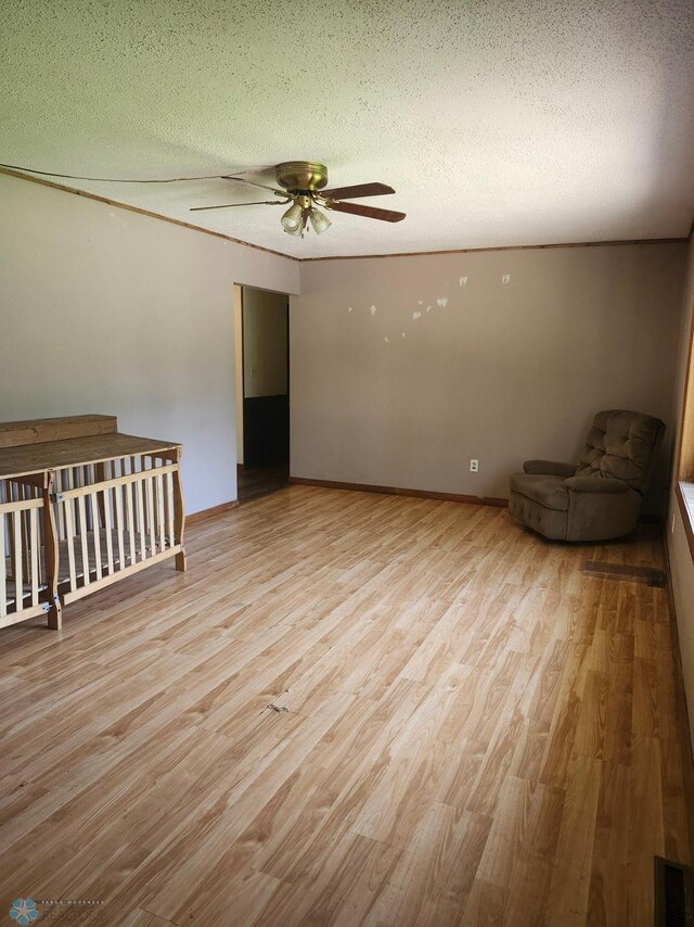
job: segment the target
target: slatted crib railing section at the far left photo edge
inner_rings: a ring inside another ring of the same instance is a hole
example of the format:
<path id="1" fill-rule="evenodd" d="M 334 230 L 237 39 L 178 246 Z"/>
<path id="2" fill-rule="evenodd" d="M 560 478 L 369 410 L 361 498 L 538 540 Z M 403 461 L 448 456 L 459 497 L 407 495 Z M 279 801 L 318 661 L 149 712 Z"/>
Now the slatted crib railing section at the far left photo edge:
<path id="1" fill-rule="evenodd" d="M 0 481 L 0 627 L 49 611 L 43 477 Z"/>

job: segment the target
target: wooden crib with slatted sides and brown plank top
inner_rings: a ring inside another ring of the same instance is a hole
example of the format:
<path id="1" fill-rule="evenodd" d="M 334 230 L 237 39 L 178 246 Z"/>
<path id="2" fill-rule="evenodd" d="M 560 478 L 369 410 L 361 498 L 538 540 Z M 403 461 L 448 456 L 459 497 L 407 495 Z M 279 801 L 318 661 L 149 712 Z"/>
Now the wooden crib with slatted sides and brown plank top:
<path id="1" fill-rule="evenodd" d="M 111 416 L 0 424 L 0 627 L 176 558 L 185 570 L 181 446 Z"/>

